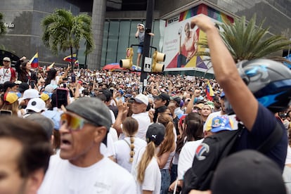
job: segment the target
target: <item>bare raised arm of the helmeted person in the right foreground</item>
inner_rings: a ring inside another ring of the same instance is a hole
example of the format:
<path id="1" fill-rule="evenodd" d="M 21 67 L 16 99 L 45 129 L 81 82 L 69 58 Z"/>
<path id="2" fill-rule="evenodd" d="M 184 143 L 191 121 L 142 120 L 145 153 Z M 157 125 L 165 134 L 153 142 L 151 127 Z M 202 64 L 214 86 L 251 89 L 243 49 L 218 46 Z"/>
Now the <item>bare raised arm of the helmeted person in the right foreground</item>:
<path id="1" fill-rule="evenodd" d="M 231 103 L 235 114 L 243 121 L 249 131 L 252 130 L 254 120 L 257 117 L 258 102 L 243 79 L 240 78 L 233 57 L 221 39 L 214 22 L 206 15 L 198 15 L 191 20 L 191 26 L 193 25 L 198 25 L 200 30 L 207 34 L 216 80 L 224 89 L 226 98 Z"/>

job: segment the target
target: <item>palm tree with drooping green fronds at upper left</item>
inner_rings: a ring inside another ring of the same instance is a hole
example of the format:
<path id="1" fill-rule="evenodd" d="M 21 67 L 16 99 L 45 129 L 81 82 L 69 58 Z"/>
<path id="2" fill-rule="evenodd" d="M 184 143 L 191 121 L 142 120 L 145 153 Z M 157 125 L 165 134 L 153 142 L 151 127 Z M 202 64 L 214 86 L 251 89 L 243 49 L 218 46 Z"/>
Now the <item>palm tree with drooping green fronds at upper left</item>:
<path id="1" fill-rule="evenodd" d="M 65 9 L 56 9 L 51 15 L 46 16 L 41 21 L 41 26 L 44 30 L 42 36 L 44 45 L 56 55 L 58 55 L 59 51 L 66 51 L 70 48 L 72 56 L 72 49 L 79 48 L 81 39 L 86 40 L 86 51 L 84 54 L 93 51 L 94 42 L 91 30 L 91 17 L 89 15 L 80 14 L 74 16 Z M 71 61 L 71 65 L 73 65 L 73 61 Z"/>

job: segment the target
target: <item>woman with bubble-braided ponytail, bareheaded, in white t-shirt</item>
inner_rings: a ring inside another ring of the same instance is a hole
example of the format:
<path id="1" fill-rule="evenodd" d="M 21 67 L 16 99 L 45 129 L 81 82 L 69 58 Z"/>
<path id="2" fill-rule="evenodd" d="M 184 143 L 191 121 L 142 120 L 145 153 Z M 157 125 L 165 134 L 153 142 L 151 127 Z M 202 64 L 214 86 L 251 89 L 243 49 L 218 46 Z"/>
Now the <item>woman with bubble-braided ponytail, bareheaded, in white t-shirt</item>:
<path id="1" fill-rule="evenodd" d="M 131 164 L 137 150 L 144 148 L 146 142 L 134 137 L 138 131 L 138 122 L 133 117 L 127 117 L 122 123 L 122 133 L 125 138 L 115 141 L 115 160 L 117 164 L 131 172 Z"/>

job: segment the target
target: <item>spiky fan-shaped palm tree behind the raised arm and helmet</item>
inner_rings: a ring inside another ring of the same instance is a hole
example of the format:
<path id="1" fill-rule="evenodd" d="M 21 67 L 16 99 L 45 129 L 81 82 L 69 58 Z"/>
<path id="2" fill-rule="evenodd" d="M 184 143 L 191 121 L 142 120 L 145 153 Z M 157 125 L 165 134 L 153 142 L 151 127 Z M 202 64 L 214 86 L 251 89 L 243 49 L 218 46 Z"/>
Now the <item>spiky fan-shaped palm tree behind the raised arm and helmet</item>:
<path id="1" fill-rule="evenodd" d="M 270 58 L 273 60 L 285 61 L 286 59 L 280 56 L 269 57 L 270 54 L 276 51 L 287 48 L 291 41 L 288 41 L 283 36 L 273 35 L 267 37 L 270 27 L 264 29 L 262 26 L 264 20 L 261 21 L 258 27 L 255 25 L 256 15 L 250 22 L 246 22 L 245 16 L 238 19 L 235 18 L 233 23 L 222 23 L 216 27 L 222 28 L 220 32 L 224 43 L 231 52 L 235 63 L 240 60 L 252 60 L 255 58 Z M 208 48 L 206 40 L 198 43 L 202 48 Z M 209 56 L 207 51 L 199 51 L 198 56 Z"/>

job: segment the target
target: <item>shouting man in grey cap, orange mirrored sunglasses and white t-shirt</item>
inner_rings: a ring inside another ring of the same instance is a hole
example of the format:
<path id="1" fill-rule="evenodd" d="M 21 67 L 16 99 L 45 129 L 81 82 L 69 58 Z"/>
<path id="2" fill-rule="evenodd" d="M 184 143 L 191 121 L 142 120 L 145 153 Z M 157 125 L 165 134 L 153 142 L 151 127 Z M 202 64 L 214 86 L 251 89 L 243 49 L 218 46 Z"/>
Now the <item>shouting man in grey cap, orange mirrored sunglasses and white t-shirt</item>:
<path id="1" fill-rule="evenodd" d="M 60 154 L 51 157 L 38 193 L 136 193 L 133 176 L 100 152 L 111 126 L 108 107 L 97 98 L 79 98 L 66 109 Z"/>

